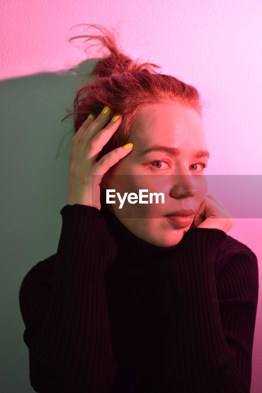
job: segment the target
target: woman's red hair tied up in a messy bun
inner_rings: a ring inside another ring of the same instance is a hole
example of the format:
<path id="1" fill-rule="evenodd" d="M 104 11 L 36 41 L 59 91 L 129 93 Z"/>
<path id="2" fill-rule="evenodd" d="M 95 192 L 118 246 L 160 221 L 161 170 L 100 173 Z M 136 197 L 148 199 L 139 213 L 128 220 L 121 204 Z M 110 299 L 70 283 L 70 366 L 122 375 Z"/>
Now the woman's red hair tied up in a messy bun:
<path id="1" fill-rule="evenodd" d="M 81 35 L 70 40 L 79 37 L 89 37 L 86 41 L 99 39 L 103 43 L 103 47 L 109 49 L 110 55 L 102 57 L 96 63 L 91 73 L 95 80 L 84 84 L 77 91 L 74 109 L 67 109 L 66 111 L 70 111 L 70 114 L 62 121 L 74 116 L 72 131 L 76 134 L 89 114 L 98 116 L 105 105 L 111 109 L 111 118 L 117 114 L 122 115 L 120 127 L 103 147 L 96 161 L 129 141 L 130 129 L 135 121 L 137 111 L 148 104 L 173 101 L 183 107 L 195 109 L 202 119 L 204 101 L 200 99 L 194 86 L 173 76 L 157 73 L 152 66 L 154 68 L 161 67 L 156 64 L 149 62 L 138 64 L 137 61 L 120 52 L 111 32 L 101 25 L 89 26 L 98 28 L 103 35 Z"/>

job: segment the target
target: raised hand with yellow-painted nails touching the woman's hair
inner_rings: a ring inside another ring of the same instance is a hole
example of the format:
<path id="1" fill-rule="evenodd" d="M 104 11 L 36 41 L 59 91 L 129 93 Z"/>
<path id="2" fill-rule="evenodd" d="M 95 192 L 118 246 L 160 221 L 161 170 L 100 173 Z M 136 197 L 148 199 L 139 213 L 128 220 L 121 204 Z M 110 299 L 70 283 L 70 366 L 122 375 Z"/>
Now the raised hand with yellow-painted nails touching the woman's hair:
<path id="1" fill-rule="evenodd" d="M 91 119 L 86 119 L 72 139 L 67 205 L 80 204 L 100 210 L 100 183 L 103 175 L 132 151 L 133 146 L 130 146 L 130 149 L 123 149 L 120 146 L 96 162 L 103 146 L 113 136 L 122 121 L 122 116 L 118 115 L 119 118 L 116 121 L 108 123 L 111 110 L 102 114 L 105 108 L 97 118 L 93 116 Z"/>

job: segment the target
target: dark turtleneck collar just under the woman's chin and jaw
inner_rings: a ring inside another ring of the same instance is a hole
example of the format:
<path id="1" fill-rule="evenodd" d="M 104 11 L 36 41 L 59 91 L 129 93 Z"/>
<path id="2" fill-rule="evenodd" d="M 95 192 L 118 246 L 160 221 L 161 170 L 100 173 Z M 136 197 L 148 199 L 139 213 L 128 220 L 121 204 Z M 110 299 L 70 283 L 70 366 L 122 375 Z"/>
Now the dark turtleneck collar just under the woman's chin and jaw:
<path id="1" fill-rule="evenodd" d="M 160 247 L 155 244 L 148 243 L 136 235 L 134 235 L 131 231 L 129 231 L 124 224 L 118 218 L 107 209 L 107 207 L 101 203 L 101 214 L 103 215 L 111 236 L 115 239 L 118 247 L 125 248 L 129 250 L 130 253 L 137 253 L 139 250 L 140 254 L 151 255 L 155 253 L 171 253 L 173 250 L 181 247 L 181 244 L 185 241 L 185 236 L 181 239 L 181 241 L 175 246 L 171 247 Z M 194 229 L 194 228 L 193 228 Z M 191 229 L 190 229 L 191 230 Z"/>

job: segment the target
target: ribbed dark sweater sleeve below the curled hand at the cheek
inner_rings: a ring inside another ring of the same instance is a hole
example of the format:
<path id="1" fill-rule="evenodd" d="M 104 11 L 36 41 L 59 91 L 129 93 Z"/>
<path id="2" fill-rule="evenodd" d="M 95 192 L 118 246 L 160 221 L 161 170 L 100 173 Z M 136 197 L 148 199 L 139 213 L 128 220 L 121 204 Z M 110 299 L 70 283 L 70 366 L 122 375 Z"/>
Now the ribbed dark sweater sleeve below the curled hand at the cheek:
<path id="1" fill-rule="evenodd" d="M 192 228 L 177 261 L 165 267 L 180 305 L 166 337 L 165 358 L 173 359 L 163 367 L 167 391 L 250 392 L 258 263 L 247 246 L 239 247 L 222 258 L 216 277 L 215 255 L 226 237 Z M 181 380 L 185 370 L 188 378 Z"/>

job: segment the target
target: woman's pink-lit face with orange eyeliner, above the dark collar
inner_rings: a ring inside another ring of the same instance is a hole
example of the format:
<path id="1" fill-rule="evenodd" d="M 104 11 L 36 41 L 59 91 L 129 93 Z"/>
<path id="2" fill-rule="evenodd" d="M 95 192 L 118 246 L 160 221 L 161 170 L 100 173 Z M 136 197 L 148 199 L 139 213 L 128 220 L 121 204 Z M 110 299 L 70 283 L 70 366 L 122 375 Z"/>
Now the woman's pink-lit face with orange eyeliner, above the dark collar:
<path id="1" fill-rule="evenodd" d="M 115 204 L 105 206 L 129 231 L 151 244 L 174 246 L 192 226 L 207 195 L 205 169 L 199 162 L 207 164 L 208 157 L 194 157 L 197 152 L 207 150 L 202 120 L 196 110 L 171 101 L 148 105 L 138 111 L 129 142 L 134 144 L 133 150 L 103 176 L 101 197 L 105 203 L 106 189 L 115 190 L 110 192 L 115 195 L 110 198 Z M 125 193 L 139 196 L 142 189 L 148 190 L 143 191 L 148 195 L 143 198 L 147 204 L 139 200 L 131 204 L 126 196 L 119 208 L 117 192 L 123 198 Z M 153 203 L 149 203 L 149 193 L 164 193 L 164 203 L 161 203 L 161 196 L 158 203 L 155 197 Z M 194 211 L 186 226 L 178 226 L 166 217 L 180 209 Z"/>

